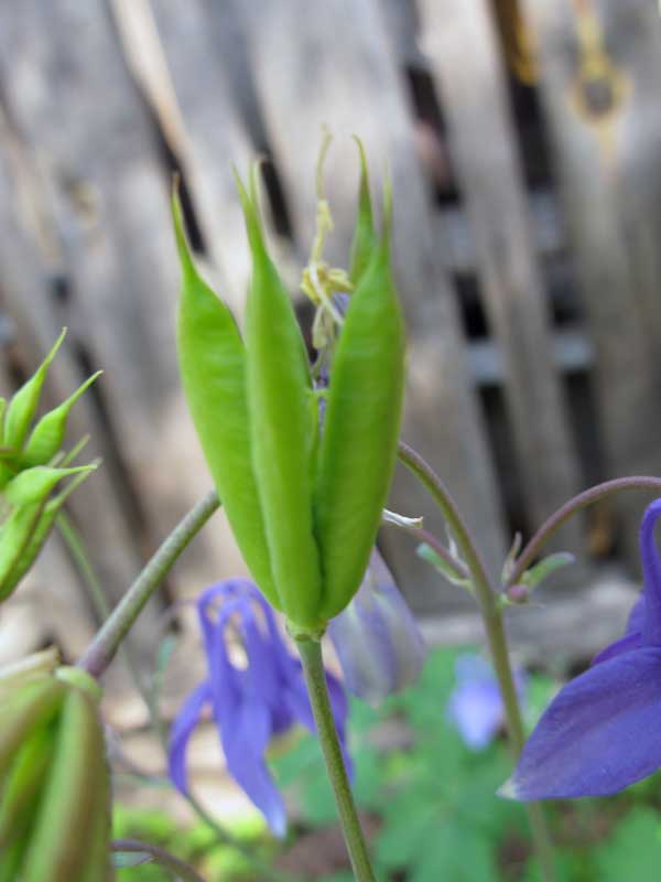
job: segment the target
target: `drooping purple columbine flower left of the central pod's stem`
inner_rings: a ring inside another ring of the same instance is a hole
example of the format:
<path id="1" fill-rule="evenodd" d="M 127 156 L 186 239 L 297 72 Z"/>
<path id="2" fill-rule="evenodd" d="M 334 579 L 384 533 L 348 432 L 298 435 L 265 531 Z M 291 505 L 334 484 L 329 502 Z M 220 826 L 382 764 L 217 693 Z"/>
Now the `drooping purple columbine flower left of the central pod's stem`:
<path id="1" fill-rule="evenodd" d="M 171 736 L 170 777 L 188 792 L 186 749 L 206 706 L 218 727 L 227 770 L 266 817 L 275 836 L 286 830 L 284 803 L 264 761 L 274 735 L 302 723 L 315 731 L 301 663 L 286 649 L 273 611 L 252 582 L 230 579 L 207 588 L 197 600 L 207 659 L 206 679 L 188 696 Z M 227 648 L 231 628 L 240 637 L 247 667 Z M 337 679 L 327 675 L 333 716 L 345 744 L 347 702 Z M 345 762 L 350 768 L 345 751 Z"/>

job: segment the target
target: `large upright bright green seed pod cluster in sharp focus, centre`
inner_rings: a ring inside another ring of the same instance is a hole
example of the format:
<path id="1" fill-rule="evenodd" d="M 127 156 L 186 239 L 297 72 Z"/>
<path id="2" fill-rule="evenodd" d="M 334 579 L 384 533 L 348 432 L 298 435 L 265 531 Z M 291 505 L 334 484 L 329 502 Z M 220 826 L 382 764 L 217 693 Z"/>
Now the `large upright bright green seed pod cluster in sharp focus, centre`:
<path id="1" fill-rule="evenodd" d="M 245 336 L 198 275 L 174 224 L 183 269 L 177 348 L 184 390 L 246 563 L 294 633 L 318 633 L 351 600 L 369 560 L 397 455 L 404 363 L 390 269 L 390 196 L 373 227 L 365 158 L 344 324 L 319 437 L 317 392 L 257 205 L 239 194 L 252 257 Z"/>

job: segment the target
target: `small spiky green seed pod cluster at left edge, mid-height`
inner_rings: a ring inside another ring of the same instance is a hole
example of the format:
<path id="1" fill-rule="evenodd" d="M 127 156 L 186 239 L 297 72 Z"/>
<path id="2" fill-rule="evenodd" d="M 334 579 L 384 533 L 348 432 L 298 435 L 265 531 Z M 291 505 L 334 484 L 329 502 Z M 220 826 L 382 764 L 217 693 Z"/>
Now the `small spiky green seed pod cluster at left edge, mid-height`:
<path id="1" fill-rule="evenodd" d="M 35 374 L 7 404 L 0 399 L 0 601 L 28 572 L 46 541 L 67 496 L 93 472 L 95 463 L 67 467 L 62 452 L 71 409 L 100 372 L 45 413 L 31 431 L 47 369 L 65 331 Z M 59 483 L 72 481 L 55 496 Z"/>

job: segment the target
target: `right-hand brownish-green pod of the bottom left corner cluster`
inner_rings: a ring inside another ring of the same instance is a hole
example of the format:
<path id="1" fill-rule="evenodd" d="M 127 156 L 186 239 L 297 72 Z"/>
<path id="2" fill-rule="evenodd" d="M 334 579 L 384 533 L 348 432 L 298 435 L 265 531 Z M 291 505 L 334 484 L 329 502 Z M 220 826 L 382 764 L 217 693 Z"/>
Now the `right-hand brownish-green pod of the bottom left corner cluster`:
<path id="1" fill-rule="evenodd" d="M 53 759 L 35 805 L 23 882 L 96 881 L 109 873 L 108 770 L 97 702 L 87 690 L 69 684 L 63 688 Z M 106 848 L 88 852 L 99 824 Z"/>

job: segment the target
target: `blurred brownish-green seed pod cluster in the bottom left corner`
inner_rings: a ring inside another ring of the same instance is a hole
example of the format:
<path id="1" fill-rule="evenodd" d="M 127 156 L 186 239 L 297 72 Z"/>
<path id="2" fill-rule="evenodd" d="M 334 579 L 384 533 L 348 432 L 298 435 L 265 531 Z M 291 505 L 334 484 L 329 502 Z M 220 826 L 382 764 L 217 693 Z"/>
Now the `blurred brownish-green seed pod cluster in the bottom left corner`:
<path id="1" fill-rule="evenodd" d="M 0 882 L 109 882 L 110 786 L 100 690 L 37 674 L 0 698 Z"/>

